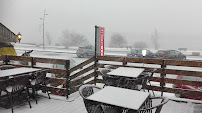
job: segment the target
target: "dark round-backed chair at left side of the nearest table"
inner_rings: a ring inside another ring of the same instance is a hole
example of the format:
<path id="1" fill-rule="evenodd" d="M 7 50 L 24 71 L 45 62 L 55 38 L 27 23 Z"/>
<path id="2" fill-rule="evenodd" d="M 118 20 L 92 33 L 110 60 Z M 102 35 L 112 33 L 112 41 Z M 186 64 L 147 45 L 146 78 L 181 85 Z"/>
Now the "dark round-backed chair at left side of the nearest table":
<path id="1" fill-rule="evenodd" d="M 95 90 L 101 90 L 102 88 L 94 85 L 83 85 L 79 88 L 79 94 L 83 98 L 86 110 L 88 113 L 104 113 L 101 104 L 98 102 L 87 100 L 86 98 L 94 94 Z"/>

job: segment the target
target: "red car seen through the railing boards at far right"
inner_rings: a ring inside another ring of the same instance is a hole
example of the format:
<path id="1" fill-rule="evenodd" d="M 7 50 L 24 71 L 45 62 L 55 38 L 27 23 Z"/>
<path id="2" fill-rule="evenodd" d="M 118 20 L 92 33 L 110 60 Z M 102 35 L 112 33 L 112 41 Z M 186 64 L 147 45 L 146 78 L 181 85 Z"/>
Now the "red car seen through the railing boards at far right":
<path id="1" fill-rule="evenodd" d="M 192 76 L 178 75 L 177 79 L 202 82 L 202 77 L 192 77 Z M 173 88 L 180 88 L 180 89 L 187 89 L 187 90 L 194 90 L 194 91 L 202 91 L 202 87 L 190 86 L 190 85 L 174 84 Z M 194 99 L 194 100 L 202 100 L 202 96 L 193 97 L 191 95 L 176 94 L 176 97 L 188 98 L 188 99 Z"/>

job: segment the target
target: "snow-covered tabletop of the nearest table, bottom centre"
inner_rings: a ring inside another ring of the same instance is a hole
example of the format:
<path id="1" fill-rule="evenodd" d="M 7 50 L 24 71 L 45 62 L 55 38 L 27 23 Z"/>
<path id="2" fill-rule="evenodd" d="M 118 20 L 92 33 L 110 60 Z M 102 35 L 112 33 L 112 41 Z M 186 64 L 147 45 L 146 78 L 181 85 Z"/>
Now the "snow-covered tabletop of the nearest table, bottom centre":
<path id="1" fill-rule="evenodd" d="M 136 90 L 106 86 L 102 90 L 87 97 L 89 100 L 138 110 L 146 102 L 150 94 Z"/>

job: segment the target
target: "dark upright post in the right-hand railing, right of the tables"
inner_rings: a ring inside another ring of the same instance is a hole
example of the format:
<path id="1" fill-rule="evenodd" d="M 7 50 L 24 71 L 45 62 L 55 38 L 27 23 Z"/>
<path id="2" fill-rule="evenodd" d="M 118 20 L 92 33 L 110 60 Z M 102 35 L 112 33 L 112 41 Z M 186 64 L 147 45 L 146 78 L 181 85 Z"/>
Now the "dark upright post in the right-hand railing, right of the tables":
<path id="1" fill-rule="evenodd" d="M 162 65 L 161 65 L 162 72 L 161 72 L 161 82 L 160 82 L 160 86 L 161 86 L 161 96 L 163 96 L 164 85 L 165 85 L 165 84 L 164 84 L 165 67 L 166 67 L 165 60 L 163 60 Z"/>

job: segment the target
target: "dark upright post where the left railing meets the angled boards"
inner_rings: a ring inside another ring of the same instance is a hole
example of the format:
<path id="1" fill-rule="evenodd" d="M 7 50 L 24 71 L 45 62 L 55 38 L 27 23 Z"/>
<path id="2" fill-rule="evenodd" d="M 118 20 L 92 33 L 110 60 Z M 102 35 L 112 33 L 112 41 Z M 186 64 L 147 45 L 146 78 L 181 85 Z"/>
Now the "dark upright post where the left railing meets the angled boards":
<path id="1" fill-rule="evenodd" d="M 70 60 L 66 60 L 66 64 L 65 64 L 65 68 L 66 68 L 66 98 L 68 99 L 68 95 L 69 95 L 69 76 L 70 76 Z"/>

